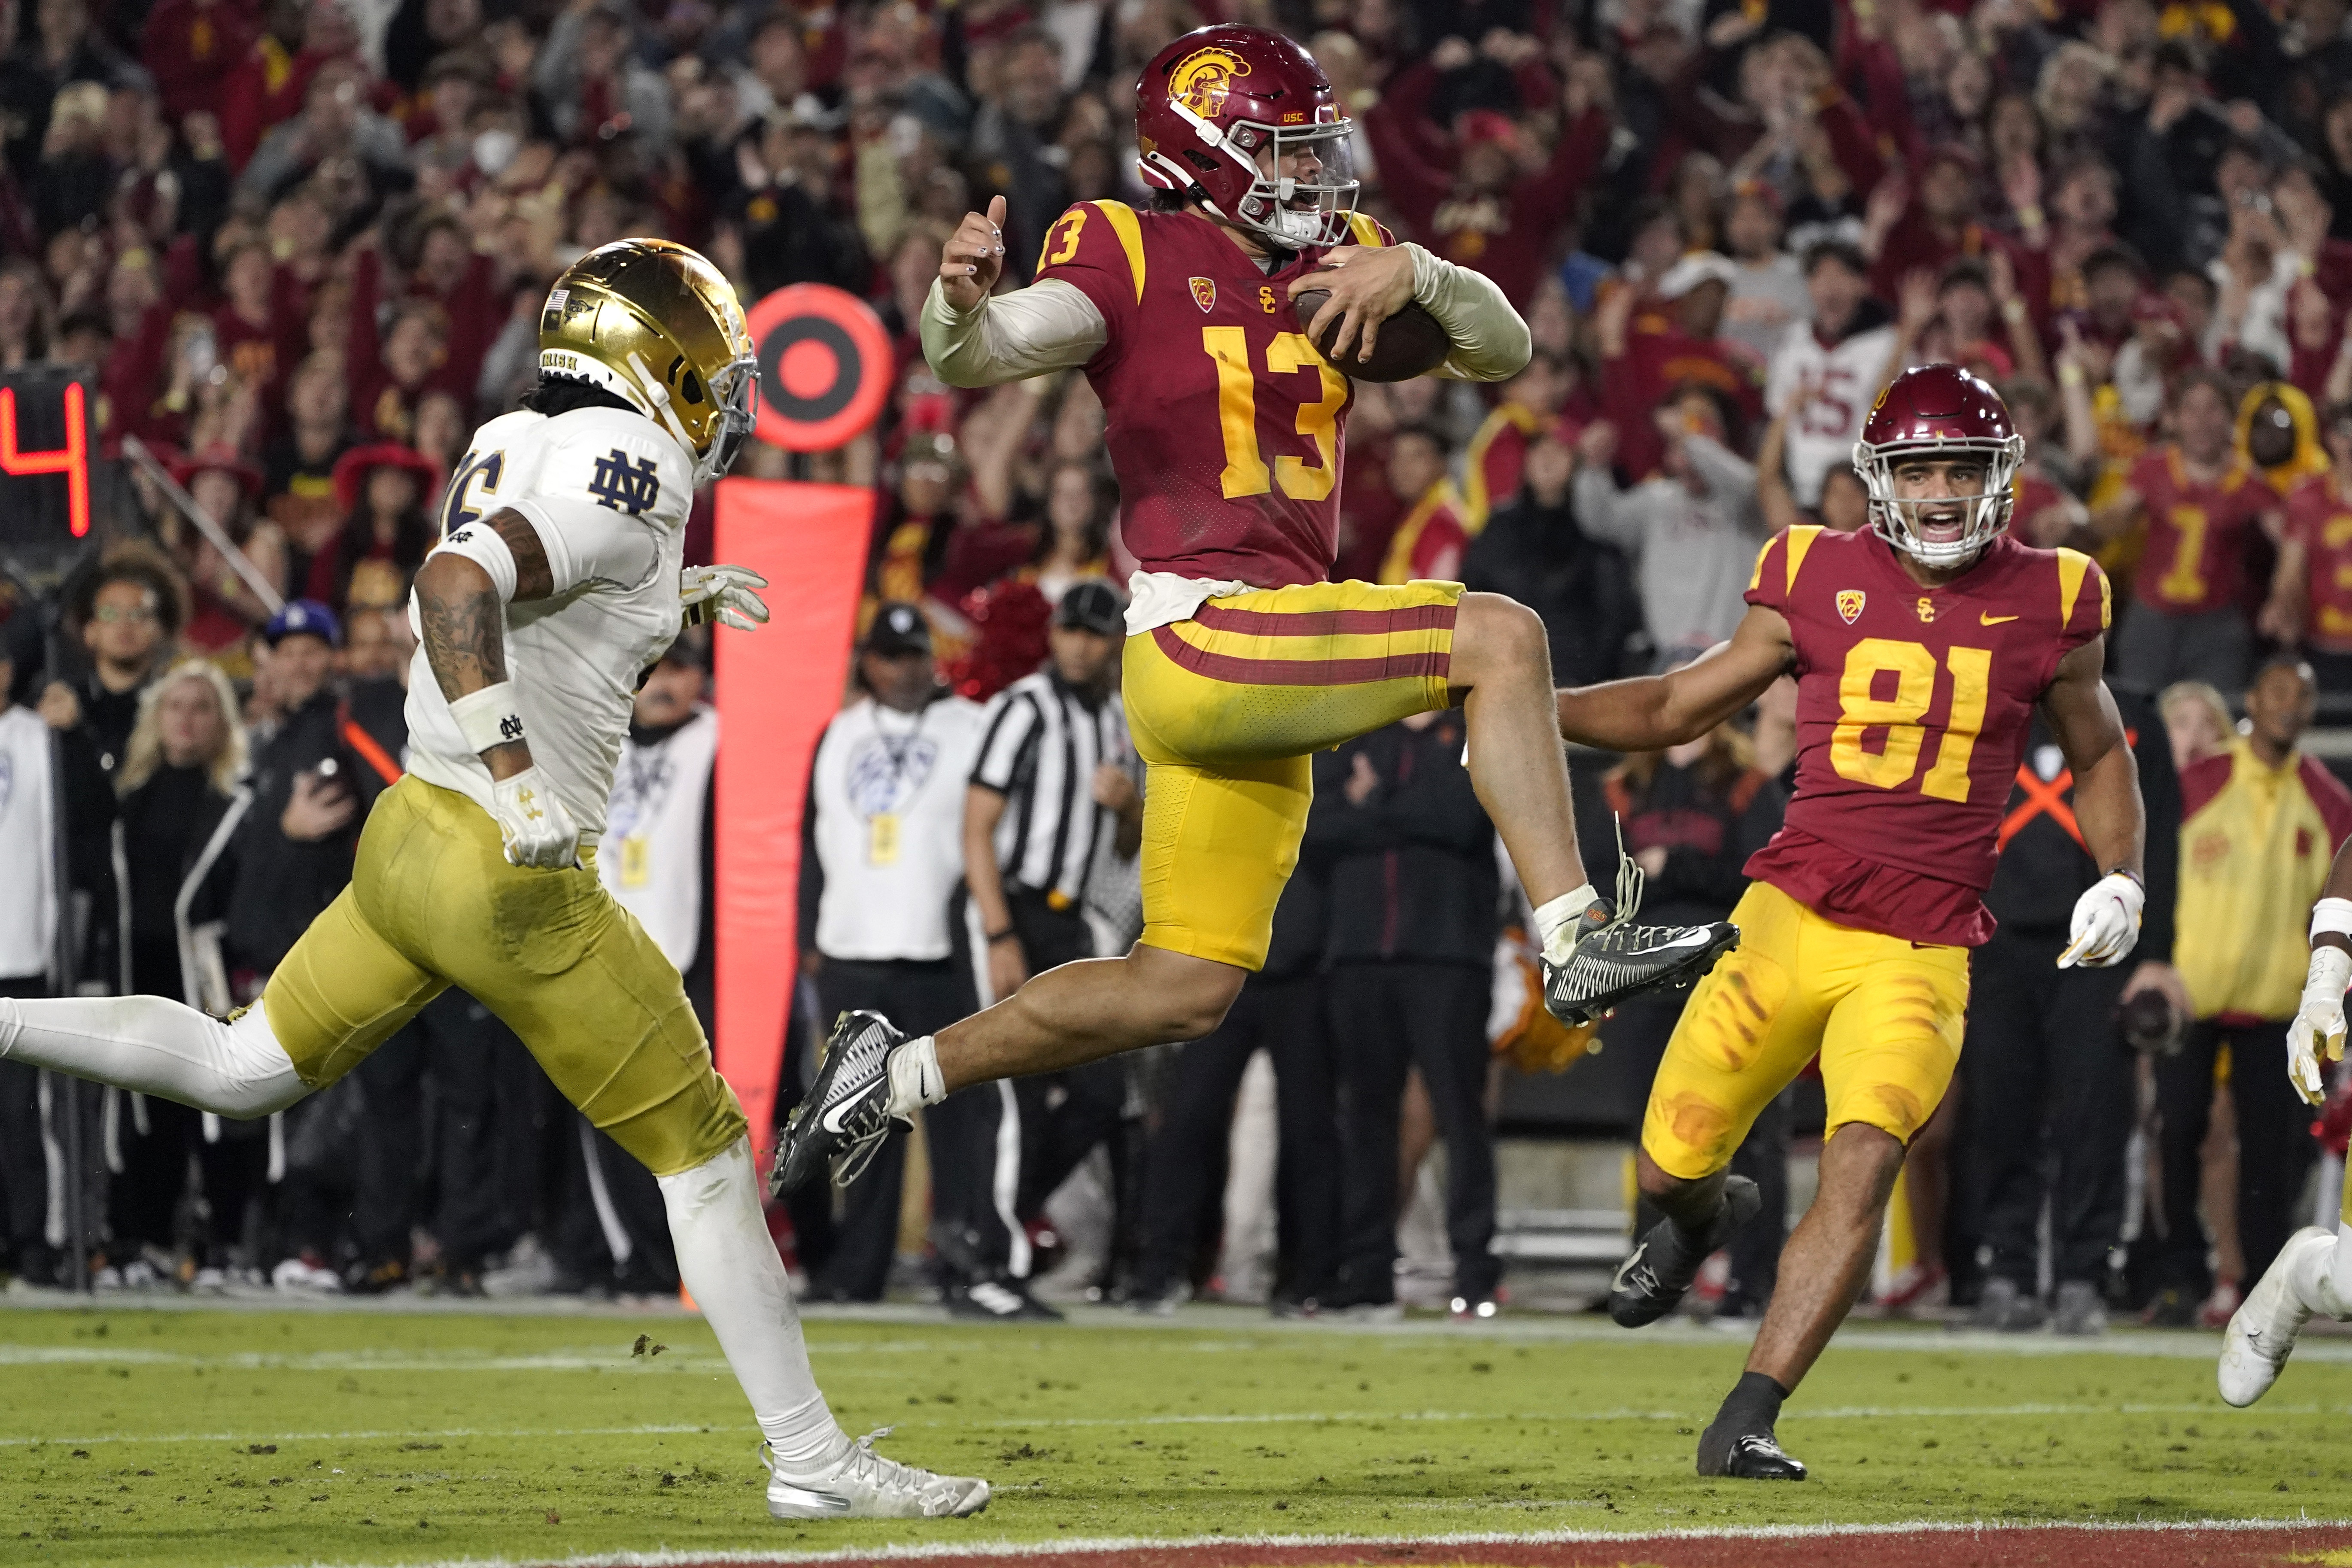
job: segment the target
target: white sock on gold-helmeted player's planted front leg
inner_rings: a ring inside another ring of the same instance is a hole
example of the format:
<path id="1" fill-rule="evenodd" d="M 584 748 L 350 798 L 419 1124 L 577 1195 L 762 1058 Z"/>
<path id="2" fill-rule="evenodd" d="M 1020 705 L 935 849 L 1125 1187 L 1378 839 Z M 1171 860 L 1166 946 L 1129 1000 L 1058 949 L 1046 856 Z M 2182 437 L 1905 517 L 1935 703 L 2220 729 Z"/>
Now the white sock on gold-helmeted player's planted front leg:
<path id="1" fill-rule="evenodd" d="M 677 1276 L 720 1338 L 776 1465 L 807 1474 L 837 1460 L 849 1439 L 809 1371 L 793 1281 L 760 1213 L 750 1138 L 656 1185 L 677 1244 Z"/>

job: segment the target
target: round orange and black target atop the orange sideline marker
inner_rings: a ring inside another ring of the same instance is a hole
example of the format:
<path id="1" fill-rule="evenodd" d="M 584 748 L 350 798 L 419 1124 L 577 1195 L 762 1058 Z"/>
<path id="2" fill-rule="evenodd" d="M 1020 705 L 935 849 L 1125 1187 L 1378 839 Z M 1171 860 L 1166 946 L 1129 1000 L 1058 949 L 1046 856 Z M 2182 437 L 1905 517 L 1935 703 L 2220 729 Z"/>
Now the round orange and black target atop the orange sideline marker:
<path id="1" fill-rule="evenodd" d="M 795 282 L 750 317 L 760 355 L 757 435 L 786 451 L 830 451 L 866 433 L 891 386 L 882 317 L 844 289 Z"/>

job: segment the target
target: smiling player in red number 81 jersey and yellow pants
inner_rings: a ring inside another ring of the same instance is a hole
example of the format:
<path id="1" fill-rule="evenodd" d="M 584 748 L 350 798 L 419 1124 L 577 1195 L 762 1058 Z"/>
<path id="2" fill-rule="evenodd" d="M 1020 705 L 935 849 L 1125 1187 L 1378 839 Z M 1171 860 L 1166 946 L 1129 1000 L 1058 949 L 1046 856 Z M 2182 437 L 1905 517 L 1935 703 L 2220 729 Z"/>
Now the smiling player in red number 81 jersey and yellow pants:
<path id="1" fill-rule="evenodd" d="M 1609 1312 L 1665 1316 L 1757 1211 L 1726 1178 L 1757 1112 L 1818 1053 L 1830 1100 L 1820 1197 L 1780 1255 L 1748 1373 L 1698 1439 L 1708 1476 L 1802 1479 L 1773 1425 L 1846 1316 L 1903 1152 L 1959 1060 L 1969 947 L 1992 936 L 2009 783 L 2034 705 L 2074 769 L 2107 872 L 2074 905 L 2070 964 L 2138 943 L 2140 780 L 2100 682 L 2107 578 L 2006 534 L 2023 442 L 1955 364 L 1896 376 L 1853 465 L 1872 527 L 1764 545 L 1731 642 L 1670 675 L 1559 693 L 1559 729 L 1611 750 L 1698 738 L 1797 677 L 1797 790 L 1748 860 L 1740 947 L 1698 983 L 1642 1121 L 1639 1180 L 1668 1215 L 1618 1269 Z"/>

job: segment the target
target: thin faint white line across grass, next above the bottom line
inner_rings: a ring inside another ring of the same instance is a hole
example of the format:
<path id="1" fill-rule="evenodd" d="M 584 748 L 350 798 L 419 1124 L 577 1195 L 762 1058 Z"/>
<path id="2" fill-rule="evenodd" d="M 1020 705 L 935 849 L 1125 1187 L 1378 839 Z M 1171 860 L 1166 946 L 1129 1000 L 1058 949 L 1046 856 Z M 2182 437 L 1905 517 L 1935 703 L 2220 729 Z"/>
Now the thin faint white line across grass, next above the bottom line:
<path id="1" fill-rule="evenodd" d="M 2352 1406 L 2277 1406 L 2265 1403 L 2263 1410 L 2272 1415 L 2352 1415 Z M 1835 1410 L 1790 1410 L 1788 1418 L 1795 1422 L 1809 1420 L 1955 1420 L 1955 1418 L 2051 1418 L 2051 1415 L 2220 1415 L 2211 1403 L 2176 1403 L 2176 1406 L 2150 1406 L 2150 1403 L 2117 1403 L 2117 1406 L 1846 1406 Z M 1562 1415 L 1559 1410 L 1543 1413 L 1479 1413 L 1479 1410 L 1334 1410 L 1334 1413 L 1303 1413 L 1303 1415 L 1134 1415 L 1134 1418 L 1040 1418 L 1040 1420 L 990 1420 L 990 1422 L 962 1422 L 962 1420 L 898 1420 L 894 1427 L 946 1427 L 960 1432 L 1030 1432 L 1037 1427 L 1322 1427 L 1322 1425 L 1369 1425 L 1369 1422 L 1536 1422 L 1548 1427 L 1573 1427 L 1578 1422 L 1618 1422 L 1618 1420 L 1675 1420 L 1691 1422 L 1698 1420 L 1700 1410 L 1590 1410 L 1583 1415 Z M 99 1436 L 0 1436 L 0 1448 L 66 1448 L 66 1446 L 89 1446 L 89 1443 L 362 1443 L 383 1439 L 426 1439 L 426 1436 L 647 1436 L 666 1432 L 717 1432 L 710 1425 L 647 1425 L 647 1427 L 442 1427 L 437 1432 L 414 1432 L 414 1429 L 388 1429 L 388 1432 L 158 1432 L 143 1436 L 136 1432 L 108 1432 Z M 1002 1490 L 1002 1488 L 1000 1488 Z"/>

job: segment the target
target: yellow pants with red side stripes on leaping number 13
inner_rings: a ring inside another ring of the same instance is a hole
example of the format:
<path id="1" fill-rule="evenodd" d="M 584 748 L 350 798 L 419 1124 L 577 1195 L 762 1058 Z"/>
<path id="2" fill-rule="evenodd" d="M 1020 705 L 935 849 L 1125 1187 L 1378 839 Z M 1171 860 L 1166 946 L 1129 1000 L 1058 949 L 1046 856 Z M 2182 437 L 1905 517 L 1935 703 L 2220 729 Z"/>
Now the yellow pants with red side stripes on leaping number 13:
<path id="1" fill-rule="evenodd" d="M 1261 969 L 1298 865 L 1308 757 L 1446 705 L 1461 583 L 1301 583 L 1127 639 L 1143 943 Z"/>

